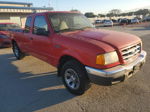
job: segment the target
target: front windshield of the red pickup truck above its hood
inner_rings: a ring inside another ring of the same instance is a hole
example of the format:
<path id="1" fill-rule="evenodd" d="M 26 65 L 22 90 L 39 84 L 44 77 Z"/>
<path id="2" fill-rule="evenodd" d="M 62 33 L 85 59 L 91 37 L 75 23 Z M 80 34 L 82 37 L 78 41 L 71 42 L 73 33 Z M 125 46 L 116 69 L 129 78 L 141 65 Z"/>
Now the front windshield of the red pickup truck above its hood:
<path id="1" fill-rule="evenodd" d="M 91 22 L 79 13 L 54 13 L 49 14 L 55 32 L 68 32 L 93 28 Z"/>

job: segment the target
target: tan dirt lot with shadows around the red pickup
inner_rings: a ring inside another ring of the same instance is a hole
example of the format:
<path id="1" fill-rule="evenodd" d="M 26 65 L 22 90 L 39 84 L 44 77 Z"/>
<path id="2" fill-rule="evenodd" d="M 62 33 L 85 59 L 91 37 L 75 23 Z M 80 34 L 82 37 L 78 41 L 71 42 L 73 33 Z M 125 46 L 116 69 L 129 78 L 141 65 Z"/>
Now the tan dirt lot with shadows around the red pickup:
<path id="1" fill-rule="evenodd" d="M 0 49 L 0 112 L 150 112 L 150 28 L 104 28 L 140 36 L 148 52 L 143 70 L 113 86 L 92 84 L 82 96 L 70 94 L 56 69 L 32 56 L 16 61 Z"/>

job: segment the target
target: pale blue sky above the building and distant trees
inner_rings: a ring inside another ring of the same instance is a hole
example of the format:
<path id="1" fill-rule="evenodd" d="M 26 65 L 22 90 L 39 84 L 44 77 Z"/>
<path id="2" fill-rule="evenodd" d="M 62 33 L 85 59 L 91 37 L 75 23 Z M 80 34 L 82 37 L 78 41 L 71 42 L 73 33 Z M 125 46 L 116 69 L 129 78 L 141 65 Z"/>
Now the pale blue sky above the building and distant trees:
<path id="1" fill-rule="evenodd" d="M 5 0 L 14 1 L 18 0 Z M 51 6 L 54 10 L 68 11 L 78 9 L 82 13 L 94 12 L 107 13 L 112 9 L 130 11 L 137 8 L 150 8 L 150 0 L 19 0 L 19 2 L 31 2 L 35 7 Z"/>

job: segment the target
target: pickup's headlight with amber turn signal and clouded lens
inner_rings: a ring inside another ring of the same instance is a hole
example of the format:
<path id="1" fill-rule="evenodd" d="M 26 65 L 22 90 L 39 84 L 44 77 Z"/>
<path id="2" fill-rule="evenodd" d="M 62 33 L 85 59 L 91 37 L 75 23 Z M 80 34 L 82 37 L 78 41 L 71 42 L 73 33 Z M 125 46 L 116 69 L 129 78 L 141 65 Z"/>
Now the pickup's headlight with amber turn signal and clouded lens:
<path id="1" fill-rule="evenodd" d="M 96 57 L 96 64 L 98 65 L 108 65 L 118 61 L 119 59 L 116 51 L 106 53 L 106 54 L 101 54 Z"/>

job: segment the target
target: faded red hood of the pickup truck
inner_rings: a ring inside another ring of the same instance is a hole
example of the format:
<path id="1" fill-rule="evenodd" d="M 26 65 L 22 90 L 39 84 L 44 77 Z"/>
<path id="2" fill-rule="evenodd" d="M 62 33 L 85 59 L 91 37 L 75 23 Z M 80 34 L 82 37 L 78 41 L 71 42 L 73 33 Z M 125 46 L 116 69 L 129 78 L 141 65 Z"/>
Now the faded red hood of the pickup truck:
<path id="1" fill-rule="evenodd" d="M 91 40 L 101 41 L 117 49 L 141 42 L 140 38 L 137 36 L 102 29 L 86 29 L 84 31 L 66 32 L 63 33 L 63 35 L 89 42 Z"/>

